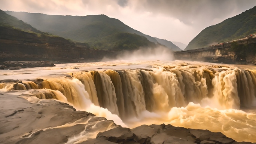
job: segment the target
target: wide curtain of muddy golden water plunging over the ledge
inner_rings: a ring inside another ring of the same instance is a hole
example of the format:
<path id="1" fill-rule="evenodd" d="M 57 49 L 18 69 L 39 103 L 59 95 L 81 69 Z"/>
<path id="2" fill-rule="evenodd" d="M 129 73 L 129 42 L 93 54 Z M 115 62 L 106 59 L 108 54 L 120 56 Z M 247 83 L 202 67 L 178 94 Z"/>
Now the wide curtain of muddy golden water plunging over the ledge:
<path id="1" fill-rule="evenodd" d="M 82 71 L 71 75 L 8 81 L 1 83 L 0 88 L 46 89 L 36 96 L 65 101 L 58 96 L 61 93 L 78 108 L 94 104 L 121 119 L 138 117 L 144 111 L 166 113 L 173 107 L 186 107 L 189 102 L 204 105 L 205 101 L 211 101 L 211 106 L 220 109 L 256 106 L 256 70 L 166 66 L 152 70 Z"/>

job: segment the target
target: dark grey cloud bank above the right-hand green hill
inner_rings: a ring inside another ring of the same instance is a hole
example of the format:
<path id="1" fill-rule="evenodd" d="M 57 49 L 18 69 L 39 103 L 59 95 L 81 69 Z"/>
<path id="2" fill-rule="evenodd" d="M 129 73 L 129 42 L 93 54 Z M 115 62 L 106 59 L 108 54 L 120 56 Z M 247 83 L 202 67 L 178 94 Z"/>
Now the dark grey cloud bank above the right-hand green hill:
<path id="1" fill-rule="evenodd" d="M 130 0 L 132 1 L 132 0 Z M 193 25 L 225 19 L 256 5 L 256 0 L 145 0 L 138 4 L 155 14 L 164 14 Z"/>

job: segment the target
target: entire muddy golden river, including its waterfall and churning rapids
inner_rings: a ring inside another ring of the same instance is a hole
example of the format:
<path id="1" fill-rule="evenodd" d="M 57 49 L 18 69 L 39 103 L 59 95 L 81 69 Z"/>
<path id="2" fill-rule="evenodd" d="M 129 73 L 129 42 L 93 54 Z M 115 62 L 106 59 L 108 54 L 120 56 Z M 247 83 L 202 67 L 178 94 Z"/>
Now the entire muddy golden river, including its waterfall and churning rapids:
<path id="1" fill-rule="evenodd" d="M 0 80 L 0 91 L 30 93 L 30 101 L 58 99 L 129 128 L 165 123 L 256 142 L 254 66 L 191 61 L 74 63 L 0 71 Z"/>

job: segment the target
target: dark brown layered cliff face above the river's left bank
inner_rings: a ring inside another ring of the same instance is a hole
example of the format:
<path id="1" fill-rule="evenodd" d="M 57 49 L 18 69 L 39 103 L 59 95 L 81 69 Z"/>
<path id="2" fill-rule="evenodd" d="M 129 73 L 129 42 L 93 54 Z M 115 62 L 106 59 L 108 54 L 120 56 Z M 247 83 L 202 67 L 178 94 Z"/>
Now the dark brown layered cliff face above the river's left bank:
<path id="1" fill-rule="evenodd" d="M 1 61 L 63 61 L 99 60 L 113 57 L 116 52 L 89 50 L 86 45 L 76 46 L 62 37 L 28 33 L 12 27 L 0 27 Z"/>

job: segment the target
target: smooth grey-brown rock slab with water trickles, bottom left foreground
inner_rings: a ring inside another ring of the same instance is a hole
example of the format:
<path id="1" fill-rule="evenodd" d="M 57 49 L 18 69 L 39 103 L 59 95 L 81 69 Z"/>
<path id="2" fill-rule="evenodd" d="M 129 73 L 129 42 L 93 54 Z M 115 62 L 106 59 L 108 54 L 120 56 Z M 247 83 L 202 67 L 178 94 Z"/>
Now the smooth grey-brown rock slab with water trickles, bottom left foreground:
<path id="1" fill-rule="evenodd" d="M 1 92 L 0 107 L 1 144 L 80 143 L 116 127 L 112 120 L 52 99 L 31 103 Z"/>

